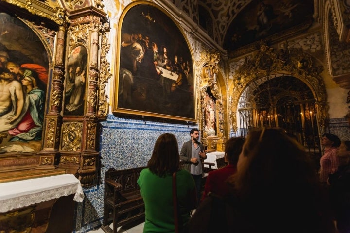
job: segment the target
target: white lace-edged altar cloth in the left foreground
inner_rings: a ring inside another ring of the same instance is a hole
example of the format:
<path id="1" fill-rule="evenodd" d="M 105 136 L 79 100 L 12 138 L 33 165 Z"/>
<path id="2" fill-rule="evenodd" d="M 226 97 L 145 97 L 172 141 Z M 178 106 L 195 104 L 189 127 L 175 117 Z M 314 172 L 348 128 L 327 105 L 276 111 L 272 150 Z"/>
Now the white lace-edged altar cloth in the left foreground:
<path id="1" fill-rule="evenodd" d="M 72 174 L 0 183 L 0 213 L 73 193 L 75 201 L 83 201 L 81 183 Z"/>

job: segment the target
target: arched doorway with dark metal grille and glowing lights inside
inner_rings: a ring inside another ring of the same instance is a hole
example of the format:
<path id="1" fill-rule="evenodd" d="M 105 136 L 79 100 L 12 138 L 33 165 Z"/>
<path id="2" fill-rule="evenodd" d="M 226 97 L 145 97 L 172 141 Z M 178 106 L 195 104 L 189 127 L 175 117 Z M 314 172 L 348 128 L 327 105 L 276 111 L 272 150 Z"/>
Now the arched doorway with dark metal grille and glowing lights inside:
<path id="1" fill-rule="evenodd" d="M 283 128 L 309 152 L 320 155 L 317 104 L 310 88 L 291 75 L 266 76 L 247 85 L 238 101 L 239 134 L 252 128 Z"/>

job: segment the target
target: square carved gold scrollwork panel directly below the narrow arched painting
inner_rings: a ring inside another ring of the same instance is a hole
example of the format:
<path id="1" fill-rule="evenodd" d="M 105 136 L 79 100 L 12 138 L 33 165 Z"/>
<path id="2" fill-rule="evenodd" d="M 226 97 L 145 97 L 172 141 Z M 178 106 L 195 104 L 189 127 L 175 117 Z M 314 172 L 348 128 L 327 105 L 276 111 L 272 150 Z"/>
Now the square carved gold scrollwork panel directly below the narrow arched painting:
<path id="1" fill-rule="evenodd" d="M 83 133 L 83 124 L 78 122 L 69 122 L 63 124 L 62 130 L 62 150 L 78 151 L 81 148 L 81 135 Z"/>

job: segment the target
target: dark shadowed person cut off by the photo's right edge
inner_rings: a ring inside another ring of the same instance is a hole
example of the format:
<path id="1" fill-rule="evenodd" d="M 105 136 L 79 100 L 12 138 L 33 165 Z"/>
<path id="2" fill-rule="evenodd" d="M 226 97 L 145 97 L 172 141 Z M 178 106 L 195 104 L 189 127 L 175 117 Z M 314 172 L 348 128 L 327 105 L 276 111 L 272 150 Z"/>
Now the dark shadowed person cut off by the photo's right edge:
<path id="1" fill-rule="evenodd" d="M 350 233 L 350 141 L 343 141 L 337 151 L 338 170 L 329 176 L 330 194 L 339 233 Z"/>

